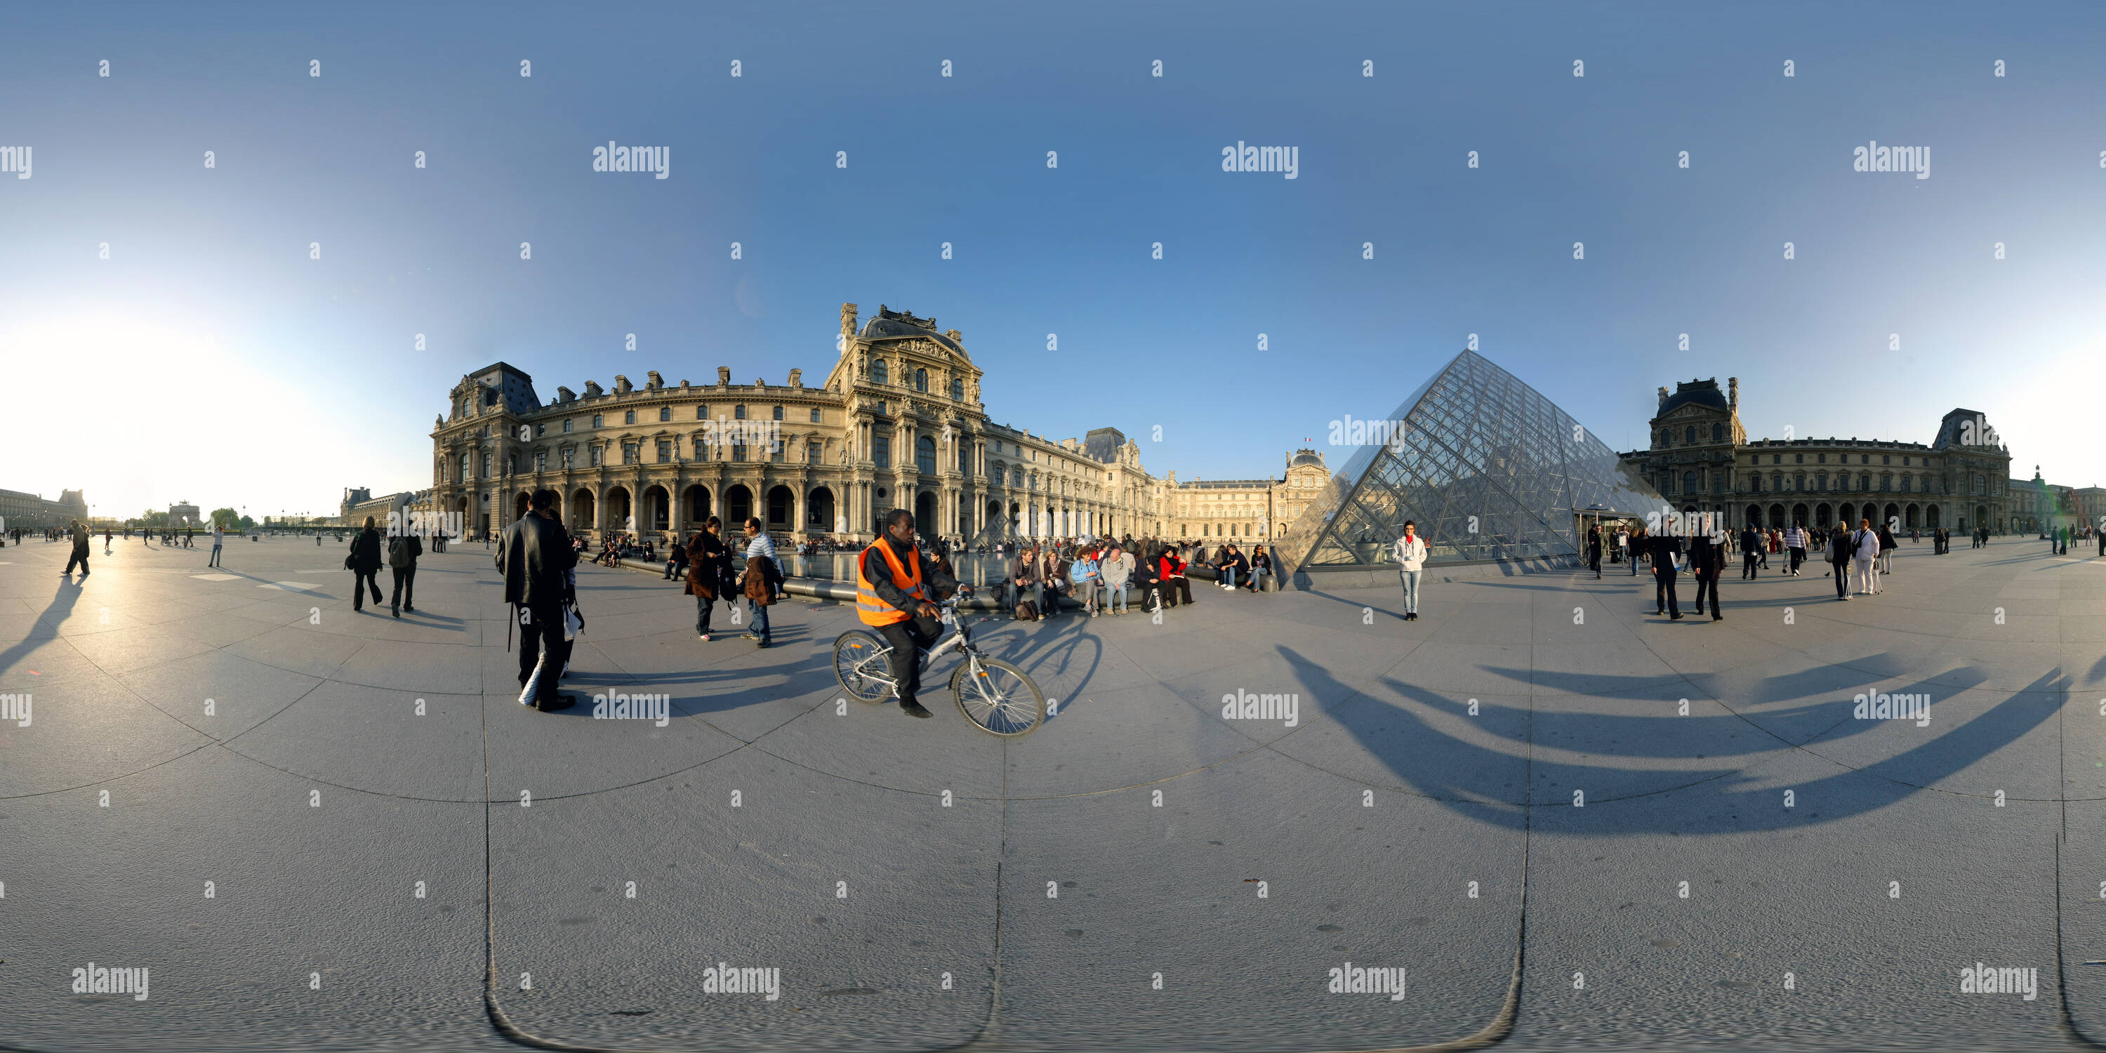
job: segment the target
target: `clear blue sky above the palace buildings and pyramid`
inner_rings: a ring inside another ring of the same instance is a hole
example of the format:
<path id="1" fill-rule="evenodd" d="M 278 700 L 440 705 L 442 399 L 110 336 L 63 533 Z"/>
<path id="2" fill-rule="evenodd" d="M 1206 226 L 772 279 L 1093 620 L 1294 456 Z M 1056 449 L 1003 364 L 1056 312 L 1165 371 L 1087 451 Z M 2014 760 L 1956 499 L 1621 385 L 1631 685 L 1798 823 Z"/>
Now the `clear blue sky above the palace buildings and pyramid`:
<path id="1" fill-rule="evenodd" d="M 17 6 L 0 486 L 329 510 L 430 484 L 465 371 L 823 375 L 842 301 L 965 331 L 996 421 L 1181 478 L 1276 472 L 1478 333 L 1617 449 L 1737 375 L 1752 436 L 1969 406 L 2013 474 L 2106 482 L 2106 6 L 1032 11 Z M 670 179 L 594 173 L 609 139 Z M 1853 173 L 1870 139 L 1929 179 Z"/>

